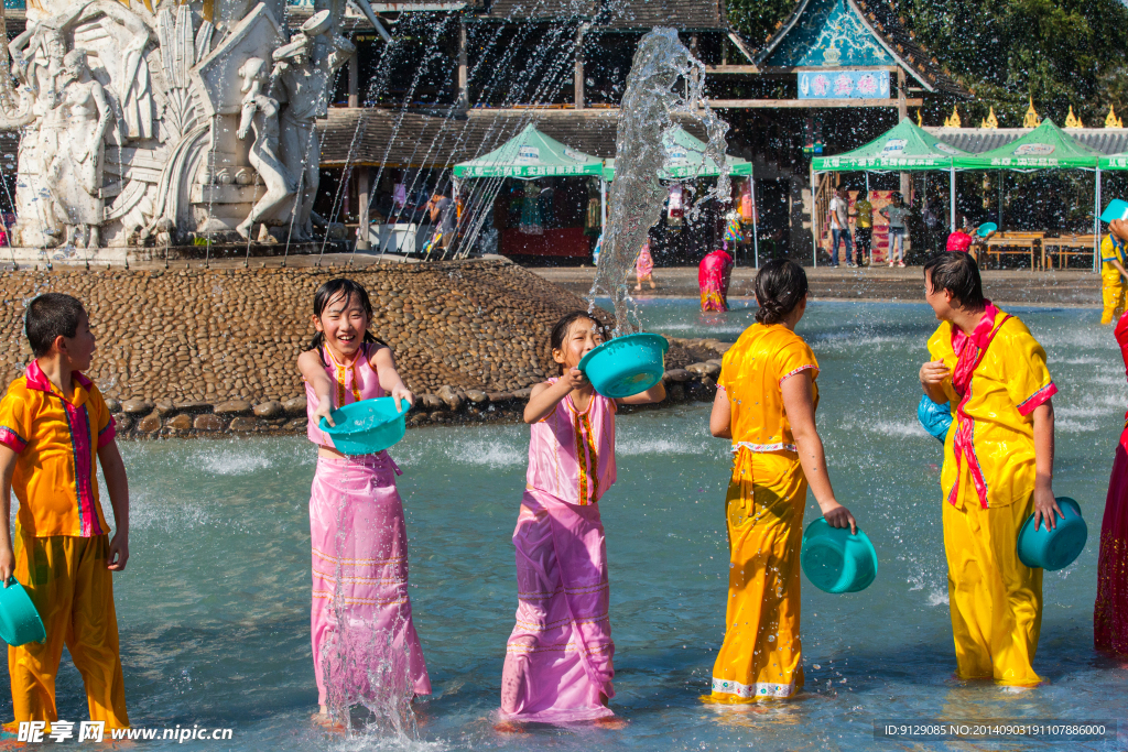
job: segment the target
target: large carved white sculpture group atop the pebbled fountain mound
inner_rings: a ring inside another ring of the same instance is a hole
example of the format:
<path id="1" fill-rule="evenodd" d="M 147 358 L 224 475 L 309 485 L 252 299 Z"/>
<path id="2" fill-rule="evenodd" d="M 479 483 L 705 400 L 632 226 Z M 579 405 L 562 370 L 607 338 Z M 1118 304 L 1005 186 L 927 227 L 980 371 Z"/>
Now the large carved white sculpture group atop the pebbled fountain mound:
<path id="1" fill-rule="evenodd" d="M 0 97 L 0 129 L 21 133 L 16 244 L 108 258 L 256 223 L 309 239 L 315 123 L 355 48 L 327 10 L 288 41 L 284 1 L 29 5 L 8 46 L 18 86 Z"/>

